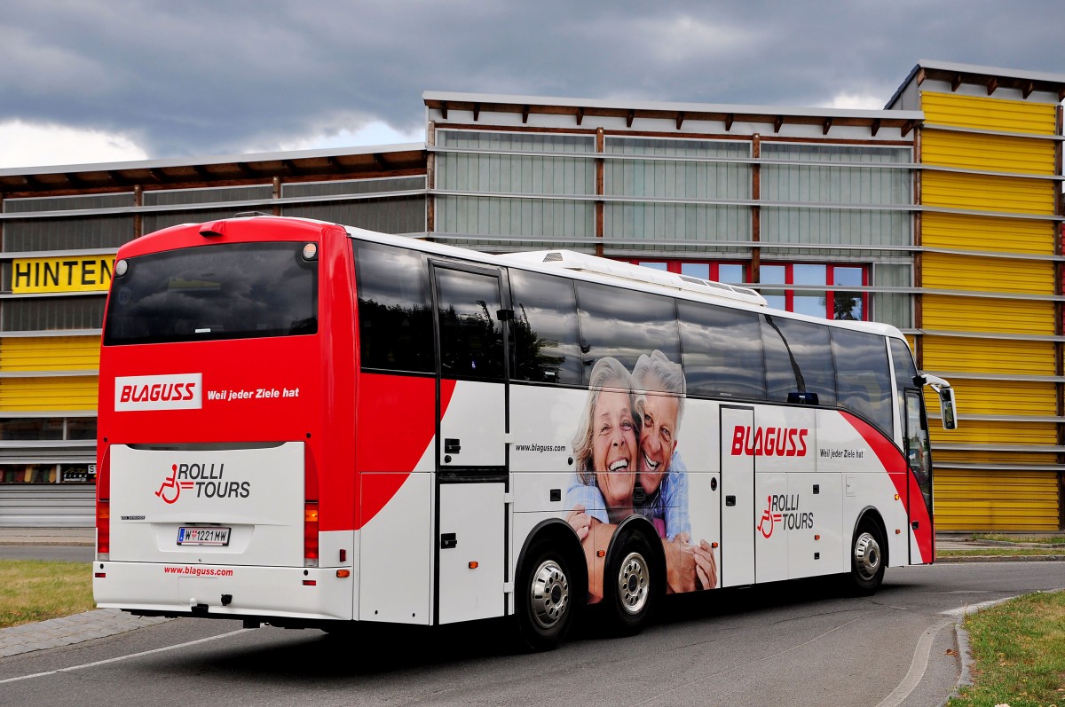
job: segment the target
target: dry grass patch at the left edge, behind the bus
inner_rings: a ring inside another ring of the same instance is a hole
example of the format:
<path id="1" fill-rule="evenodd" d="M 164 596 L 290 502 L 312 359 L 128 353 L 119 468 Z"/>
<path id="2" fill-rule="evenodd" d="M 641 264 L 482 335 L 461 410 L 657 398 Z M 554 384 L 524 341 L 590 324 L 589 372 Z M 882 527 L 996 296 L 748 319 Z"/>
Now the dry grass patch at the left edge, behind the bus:
<path id="1" fill-rule="evenodd" d="M 0 628 L 95 608 L 88 563 L 0 560 Z"/>

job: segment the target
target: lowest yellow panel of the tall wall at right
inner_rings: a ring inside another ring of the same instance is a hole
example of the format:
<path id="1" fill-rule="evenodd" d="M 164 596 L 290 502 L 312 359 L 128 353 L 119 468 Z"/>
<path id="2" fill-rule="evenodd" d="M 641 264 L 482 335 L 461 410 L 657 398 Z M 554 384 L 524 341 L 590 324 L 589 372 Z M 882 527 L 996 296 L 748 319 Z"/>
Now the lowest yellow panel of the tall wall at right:
<path id="1" fill-rule="evenodd" d="M 1058 529 L 1053 472 L 937 470 L 933 487 L 936 530 Z"/>

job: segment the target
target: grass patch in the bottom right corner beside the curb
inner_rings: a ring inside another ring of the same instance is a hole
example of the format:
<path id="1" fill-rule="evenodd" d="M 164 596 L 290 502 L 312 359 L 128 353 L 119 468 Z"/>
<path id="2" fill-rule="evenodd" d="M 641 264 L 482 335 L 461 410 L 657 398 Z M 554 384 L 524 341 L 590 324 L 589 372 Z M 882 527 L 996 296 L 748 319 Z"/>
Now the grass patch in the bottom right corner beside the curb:
<path id="1" fill-rule="evenodd" d="M 948 707 L 1065 705 L 1065 592 L 1020 596 L 965 620 L 973 685 Z"/>

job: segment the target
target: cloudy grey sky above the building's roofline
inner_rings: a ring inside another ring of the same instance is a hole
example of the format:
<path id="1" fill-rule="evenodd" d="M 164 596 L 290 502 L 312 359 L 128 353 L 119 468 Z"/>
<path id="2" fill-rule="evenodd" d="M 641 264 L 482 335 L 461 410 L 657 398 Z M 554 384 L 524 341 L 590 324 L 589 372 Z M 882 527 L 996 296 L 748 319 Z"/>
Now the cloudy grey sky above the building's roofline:
<path id="1" fill-rule="evenodd" d="M 424 91 L 883 108 L 1065 73 L 1062 0 L 4 0 L 0 168 L 421 142 Z"/>

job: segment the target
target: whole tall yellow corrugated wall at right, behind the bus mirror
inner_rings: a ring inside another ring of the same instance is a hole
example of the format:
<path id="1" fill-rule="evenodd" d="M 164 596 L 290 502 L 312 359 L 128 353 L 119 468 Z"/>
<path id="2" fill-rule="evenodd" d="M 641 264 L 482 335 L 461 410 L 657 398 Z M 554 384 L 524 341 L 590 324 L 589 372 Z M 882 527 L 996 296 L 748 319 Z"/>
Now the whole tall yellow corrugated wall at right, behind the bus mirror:
<path id="1" fill-rule="evenodd" d="M 934 210 L 920 243 L 955 251 L 921 259 L 919 285 L 936 291 L 921 296 L 921 365 L 967 376 L 952 380 L 958 429 L 932 426 L 936 527 L 1056 530 L 1056 225 L 1038 218 L 1055 214 L 1060 191 L 1039 179 L 1055 174 L 1054 142 L 1041 136 L 1055 134 L 1056 106 L 927 91 L 921 109 L 920 202 Z"/>

